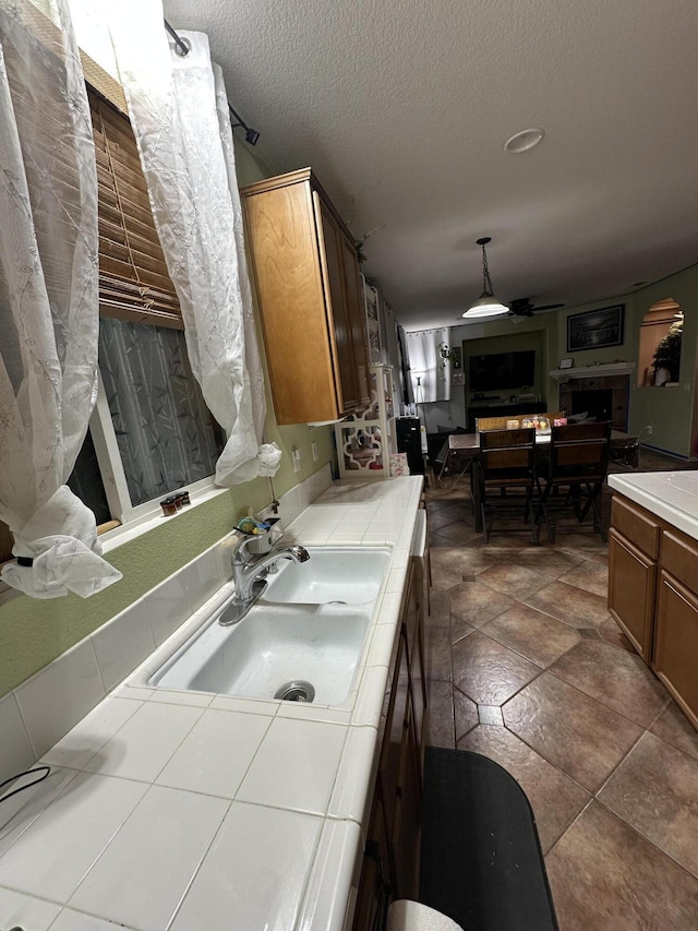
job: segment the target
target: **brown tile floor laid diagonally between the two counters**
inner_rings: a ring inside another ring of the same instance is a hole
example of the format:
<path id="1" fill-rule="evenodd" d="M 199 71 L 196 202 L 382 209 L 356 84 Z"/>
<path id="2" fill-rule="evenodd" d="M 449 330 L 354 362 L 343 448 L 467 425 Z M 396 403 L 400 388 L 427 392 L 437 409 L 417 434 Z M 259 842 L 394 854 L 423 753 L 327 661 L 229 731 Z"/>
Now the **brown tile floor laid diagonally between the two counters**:
<path id="1" fill-rule="evenodd" d="M 561 931 L 696 931 L 698 732 L 606 611 L 606 546 L 590 526 L 485 546 L 465 479 L 426 494 L 429 743 L 522 786 Z"/>

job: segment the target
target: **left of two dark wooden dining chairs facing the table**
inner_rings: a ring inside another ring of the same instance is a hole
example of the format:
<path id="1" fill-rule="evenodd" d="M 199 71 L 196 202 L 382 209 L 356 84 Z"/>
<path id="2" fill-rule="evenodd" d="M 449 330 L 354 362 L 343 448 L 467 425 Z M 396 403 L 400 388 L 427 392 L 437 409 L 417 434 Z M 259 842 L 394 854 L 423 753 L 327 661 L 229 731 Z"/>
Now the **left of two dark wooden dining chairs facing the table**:
<path id="1" fill-rule="evenodd" d="M 539 520 L 542 515 L 547 526 L 547 514 L 535 470 L 535 430 L 488 430 L 480 433 L 478 456 L 478 498 L 485 542 L 492 533 L 488 514 L 519 511 L 524 503 L 524 521 L 531 525 L 531 540 L 539 542 Z M 524 492 L 518 500 L 507 496 L 509 490 Z M 533 510 L 533 497 L 538 511 Z M 507 534 L 512 528 L 507 527 Z M 550 534 L 550 528 L 549 528 Z"/>

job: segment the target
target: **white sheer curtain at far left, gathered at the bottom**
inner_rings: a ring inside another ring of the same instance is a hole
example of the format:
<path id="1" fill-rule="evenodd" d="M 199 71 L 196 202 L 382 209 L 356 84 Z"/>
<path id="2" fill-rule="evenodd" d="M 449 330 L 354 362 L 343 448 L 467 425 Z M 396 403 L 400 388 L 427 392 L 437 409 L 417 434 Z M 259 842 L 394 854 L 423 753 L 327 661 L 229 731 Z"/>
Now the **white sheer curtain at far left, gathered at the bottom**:
<path id="1" fill-rule="evenodd" d="M 36 598 L 121 578 L 65 486 L 97 386 L 97 177 L 70 13 L 53 26 L 0 0 L 0 518 L 2 581 Z"/>

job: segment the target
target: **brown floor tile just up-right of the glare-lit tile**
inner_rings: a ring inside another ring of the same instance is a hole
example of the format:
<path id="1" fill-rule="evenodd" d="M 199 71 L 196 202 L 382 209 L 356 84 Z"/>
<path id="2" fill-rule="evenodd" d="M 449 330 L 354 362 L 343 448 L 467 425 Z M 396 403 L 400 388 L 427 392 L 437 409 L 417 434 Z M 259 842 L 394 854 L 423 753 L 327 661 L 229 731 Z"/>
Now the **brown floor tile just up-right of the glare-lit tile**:
<path id="1" fill-rule="evenodd" d="M 518 604 L 485 624 L 482 633 L 543 668 L 579 643 L 579 634 L 574 628 Z"/>

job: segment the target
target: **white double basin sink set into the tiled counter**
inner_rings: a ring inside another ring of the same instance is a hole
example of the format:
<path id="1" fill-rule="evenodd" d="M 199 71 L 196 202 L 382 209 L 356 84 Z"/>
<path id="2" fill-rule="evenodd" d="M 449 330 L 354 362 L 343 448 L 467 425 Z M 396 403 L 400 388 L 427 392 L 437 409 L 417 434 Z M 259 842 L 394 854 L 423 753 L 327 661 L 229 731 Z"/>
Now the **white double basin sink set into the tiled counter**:
<path id="1" fill-rule="evenodd" d="M 281 560 L 261 598 L 222 626 L 232 595 L 148 680 L 250 699 L 341 704 L 351 690 L 390 559 L 388 547 L 308 547 Z"/>

